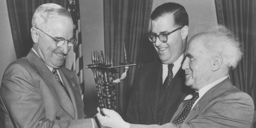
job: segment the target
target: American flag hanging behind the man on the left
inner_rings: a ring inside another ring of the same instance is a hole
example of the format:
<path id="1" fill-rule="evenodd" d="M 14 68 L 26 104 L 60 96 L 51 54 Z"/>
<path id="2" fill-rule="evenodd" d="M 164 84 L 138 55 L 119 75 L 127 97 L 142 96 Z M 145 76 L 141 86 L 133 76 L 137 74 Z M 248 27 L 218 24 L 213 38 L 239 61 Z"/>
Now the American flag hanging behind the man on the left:
<path id="1" fill-rule="evenodd" d="M 82 54 L 82 37 L 80 27 L 80 9 L 78 0 L 67 1 L 68 11 L 71 13 L 74 23 L 74 37 L 77 42 L 71 47 L 65 61 L 65 67 L 74 71 L 80 78 L 80 84 L 84 91 L 83 77 L 83 54 Z M 84 93 L 84 92 L 83 92 Z"/>

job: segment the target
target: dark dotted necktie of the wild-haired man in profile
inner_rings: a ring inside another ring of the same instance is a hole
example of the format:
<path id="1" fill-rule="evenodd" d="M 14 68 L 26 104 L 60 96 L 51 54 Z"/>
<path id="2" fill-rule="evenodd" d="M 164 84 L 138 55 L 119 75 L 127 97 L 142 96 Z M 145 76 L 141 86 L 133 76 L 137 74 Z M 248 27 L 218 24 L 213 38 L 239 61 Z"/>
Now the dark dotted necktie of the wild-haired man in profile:
<path id="1" fill-rule="evenodd" d="M 185 106 L 185 108 L 183 109 L 179 117 L 175 120 L 174 122 L 175 125 L 183 123 L 183 121 L 187 117 L 188 113 L 190 112 L 193 104 L 195 103 L 198 97 L 199 97 L 199 93 L 196 92 L 194 96 L 189 100 L 188 104 Z"/>

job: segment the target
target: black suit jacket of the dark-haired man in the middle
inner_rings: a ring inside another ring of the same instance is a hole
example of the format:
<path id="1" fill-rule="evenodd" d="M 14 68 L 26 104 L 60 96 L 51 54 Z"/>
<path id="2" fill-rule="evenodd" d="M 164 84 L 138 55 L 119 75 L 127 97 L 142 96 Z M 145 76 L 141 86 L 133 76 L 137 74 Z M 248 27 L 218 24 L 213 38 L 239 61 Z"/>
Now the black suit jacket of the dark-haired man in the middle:
<path id="1" fill-rule="evenodd" d="M 166 92 L 166 104 L 159 122 L 160 86 L 163 86 L 160 61 L 151 62 L 138 69 L 126 111 L 127 122 L 146 125 L 169 123 L 180 103 L 191 93 L 191 89 L 185 86 L 184 70 L 180 68 Z"/>

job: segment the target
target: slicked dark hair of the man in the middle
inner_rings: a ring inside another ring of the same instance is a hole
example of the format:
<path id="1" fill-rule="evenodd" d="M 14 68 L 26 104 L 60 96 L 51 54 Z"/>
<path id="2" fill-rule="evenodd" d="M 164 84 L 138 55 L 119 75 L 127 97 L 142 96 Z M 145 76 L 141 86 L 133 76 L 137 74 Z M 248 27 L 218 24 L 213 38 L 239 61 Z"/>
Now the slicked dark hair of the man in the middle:
<path id="1" fill-rule="evenodd" d="M 151 20 L 156 20 L 166 14 L 173 14 L 174 25 L 188 26 L 188 14 L 185 8 L 178 3 L 164 3 L 158 6 L 151 14 Z"/>

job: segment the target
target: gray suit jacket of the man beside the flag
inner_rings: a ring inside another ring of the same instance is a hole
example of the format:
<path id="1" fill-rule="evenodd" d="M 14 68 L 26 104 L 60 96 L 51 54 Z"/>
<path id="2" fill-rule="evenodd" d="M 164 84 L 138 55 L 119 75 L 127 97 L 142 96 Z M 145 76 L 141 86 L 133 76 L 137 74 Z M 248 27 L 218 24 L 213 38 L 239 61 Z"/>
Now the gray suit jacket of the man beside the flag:
<path id="1" fill-rule="evenodd" d="M 12 62 L 0 88 L 1 127 L 91 127 L 91 119 L 83 119 L 79 78 L 64 67 L 59 75 L 71 99 L 32 49 L 27 57 Z"/>

